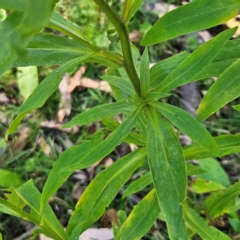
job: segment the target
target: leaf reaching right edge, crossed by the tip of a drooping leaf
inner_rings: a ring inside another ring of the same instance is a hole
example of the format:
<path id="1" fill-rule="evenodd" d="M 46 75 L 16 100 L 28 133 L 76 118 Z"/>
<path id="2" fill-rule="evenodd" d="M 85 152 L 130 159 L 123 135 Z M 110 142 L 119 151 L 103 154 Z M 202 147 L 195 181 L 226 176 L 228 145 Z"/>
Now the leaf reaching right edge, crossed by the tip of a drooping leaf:
<path id="1" fill-rule="evenodd" d="M 220 149 L 221 156 L 240 152 L 240 134 L 226 134 L 215 137 L 214 139 L 216 140 L 217 145 Z M 183 150 L 186 160 L 214 157 L 210 151 L 202 146 L 199 146 L 198 144 L 186 146 Z"/>

